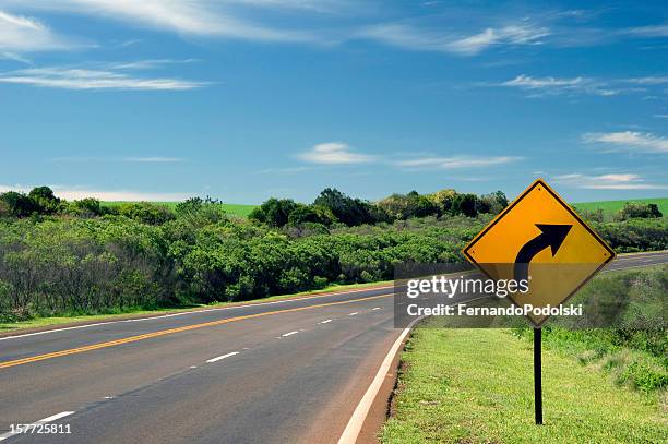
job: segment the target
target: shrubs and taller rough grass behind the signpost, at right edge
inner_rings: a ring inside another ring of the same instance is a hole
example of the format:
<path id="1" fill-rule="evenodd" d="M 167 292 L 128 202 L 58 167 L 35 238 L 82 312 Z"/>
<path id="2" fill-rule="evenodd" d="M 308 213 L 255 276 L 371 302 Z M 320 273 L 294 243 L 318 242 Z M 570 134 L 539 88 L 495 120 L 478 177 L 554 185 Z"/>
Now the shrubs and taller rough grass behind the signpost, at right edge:
<path id="1" fill-rule="evenodd" d="M 599 368 L 619 385 L 652 396 L 668 388 L 668 266 L 598 276 L 573 303 L 583 303 L 589 322 L 606 328 L 578 328 L 582 322 L 559 317 L 544 328 L 544 341 L 585 365 Z M 586 309 L 585 309 L 586 310 Z M 591 319 L 595 315 L 597 319 Z M 529 328 L 514 331 L 530 339 Z"/>

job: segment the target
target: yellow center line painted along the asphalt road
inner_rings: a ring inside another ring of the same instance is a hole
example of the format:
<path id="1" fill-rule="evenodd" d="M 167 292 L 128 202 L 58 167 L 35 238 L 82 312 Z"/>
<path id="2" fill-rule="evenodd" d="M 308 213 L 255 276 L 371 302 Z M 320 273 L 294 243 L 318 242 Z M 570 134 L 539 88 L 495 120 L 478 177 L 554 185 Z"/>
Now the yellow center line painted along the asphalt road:
<path id="1" fill-rule="evenodd" d="M 331 305 L 339 305 L 344 303 L 369 301 L 372 299 L 386 298 L 392 295 L 393 293 L 370 296 L 368 298 L 354 299 L 349 301 L 327 302 L 327 303 L 320 303 L 320 304 L 310 305 L 310 307 L 298 307 L 295 309 L 284 309 L 284 310 L 264 312 L 264 313 L 247 314 L 243 316 L 228 317 L 228 319 L 219 320 L 219 321 L 204 322 L 202 324 L 192 324 L 192 325 L 186 325 L 183 327 L 176 327 L 176 328 L 163 329 L 159 332 L 145 333 L 143 335 L 136 335 L 136 336 L 126 337 L 122 339 L 109 340 L 107 343 L 92 344 L 90 346 L 70 348 L 68 350 L 53 351 L 51 353 L 37 355 L 37 356 L 28 357 L 28 358 L 16 359 L 13 361 L 4 361 L 4 362 L 0 362 L 0 369 L 7 369 L 10 367 L 14 367 L 14 365 L 23 365 L 23 364 L 27 364 L 31 362 L 44 361 L 45 359 L 59 358 L 61 356 L 83 353 L 84 351 L 98 350 L 100 348 L 114 347 L 114 346 L 119 346 L 122 344 L 136 343 L 138 340 L 144 340 L 144 339 L 150 339 L 150 338 L 165 336 L 165 335 L 171 335 L 171 334 L 180 333 L 180 332 L 188 332 L 190 329 L 204 328 L 204 327 L 211 327 L 214 325 L 227 324 L 229 322 L 237 322 L 237 321 L 249 320 L 253 317 L 270 316 L 272 314 L 288 313 L 288 312 L 296 312 L 296 311 L 302 311 L 302 310 L 312 310 L 312 309 L 319 309 L 321 307 L 331 307 Z"/>

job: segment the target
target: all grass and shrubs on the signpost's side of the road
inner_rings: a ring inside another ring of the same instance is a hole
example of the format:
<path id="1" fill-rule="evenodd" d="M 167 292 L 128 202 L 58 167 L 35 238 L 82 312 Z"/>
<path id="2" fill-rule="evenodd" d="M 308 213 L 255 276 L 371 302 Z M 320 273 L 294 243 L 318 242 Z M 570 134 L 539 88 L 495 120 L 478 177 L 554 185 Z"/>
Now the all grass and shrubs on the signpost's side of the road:
<path id="1" fill-rule="evenodd" d="M 617 304 L 608 328 L 544 327 L 545 425 L 533 424 L 530 328 L 416 328 L 384 443 L 663 442 L 668 267 L 599 275 L 574 303 Z M 433 324 L 433 325 L 430 325 Z M 652 327 L 648 327 L 652 326 Z"/>

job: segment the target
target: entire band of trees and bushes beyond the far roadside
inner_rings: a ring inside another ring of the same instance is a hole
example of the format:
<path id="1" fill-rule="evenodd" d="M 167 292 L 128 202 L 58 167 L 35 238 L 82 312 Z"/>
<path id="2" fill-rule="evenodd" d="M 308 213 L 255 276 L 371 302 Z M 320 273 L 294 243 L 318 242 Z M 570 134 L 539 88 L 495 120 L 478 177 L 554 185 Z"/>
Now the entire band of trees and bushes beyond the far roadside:
<path id="1" fill-rule="evenodd" d="M 506 204 L 453 190 L 378 203 L 325 190 L 311 205 L 270 200 L 248 220 L 191 199 L 112 208 L 48 188 L 0 194 L 0 317 L 262 298 L 391 279 L 402 262 L 458 262 Z M 619 251 L 668 248 L 664 218 L 596 227 Z"/>

